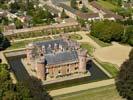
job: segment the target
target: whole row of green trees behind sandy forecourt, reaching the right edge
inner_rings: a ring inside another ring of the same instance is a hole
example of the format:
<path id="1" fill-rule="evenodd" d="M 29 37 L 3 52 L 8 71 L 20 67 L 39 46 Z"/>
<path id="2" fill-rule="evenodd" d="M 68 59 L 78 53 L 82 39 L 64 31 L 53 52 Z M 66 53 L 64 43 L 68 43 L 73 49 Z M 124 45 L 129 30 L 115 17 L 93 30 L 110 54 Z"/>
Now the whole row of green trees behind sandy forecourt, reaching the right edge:
<path id="1" fill-rule="evenodd" d="M 133 26 L 124 26 L 112 21 L 97 21 L 91 26 L 91 35 L 104 41 L 118 41 L 133 45 Z"/>

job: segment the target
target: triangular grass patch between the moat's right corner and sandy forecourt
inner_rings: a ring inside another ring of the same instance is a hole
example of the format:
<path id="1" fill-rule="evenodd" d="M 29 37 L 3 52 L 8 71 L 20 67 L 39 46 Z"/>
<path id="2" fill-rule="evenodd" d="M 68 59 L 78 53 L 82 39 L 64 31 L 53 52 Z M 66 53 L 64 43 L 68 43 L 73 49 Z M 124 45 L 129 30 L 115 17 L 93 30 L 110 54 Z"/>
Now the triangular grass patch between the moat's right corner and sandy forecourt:
<path id="1" fill-rule="evenodd" d="M 111 64 L 108 62 L 101 62 L 99 60 L 96 60 L 106 71 L 108 71 L 113 77 L 116 77 L 118 74 L 118 66 L 115 64 Z"/>

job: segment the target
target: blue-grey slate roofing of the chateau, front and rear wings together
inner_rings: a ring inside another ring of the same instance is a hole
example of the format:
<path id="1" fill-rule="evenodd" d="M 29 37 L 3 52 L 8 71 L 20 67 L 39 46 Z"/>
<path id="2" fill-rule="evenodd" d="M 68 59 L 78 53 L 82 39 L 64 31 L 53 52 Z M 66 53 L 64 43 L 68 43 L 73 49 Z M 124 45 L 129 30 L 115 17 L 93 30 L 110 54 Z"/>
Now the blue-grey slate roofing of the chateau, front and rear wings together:
<path id="1" fill-rule="evenodd" d="M 65 42 L 63 39 L 57 39 L 57 40 L 51 40 L 51 41 L 45 41 L 45 42 L 35 42 L 33 43 L 34 45 L 37 46 L 45 46 L 45 61 L 47 65 L 60 65 L 64 63 L 69 63 L 69 62 L 77 62 L 78 61 L 78 53 L 75 49 L 73 50 L 67 50 L 65 49 L 64 51 L 58 51 L 58 52 L 53 52 L 54 50 L 54 45 L 58 44 L 62 45 L 63 48 L 71 48 L 75 45 L 73 41 L 70 41 L 70 45 L 68 45 L 67 42 Z M 51 49 L 49 48 L 49 44 L 51 45 Z"/>

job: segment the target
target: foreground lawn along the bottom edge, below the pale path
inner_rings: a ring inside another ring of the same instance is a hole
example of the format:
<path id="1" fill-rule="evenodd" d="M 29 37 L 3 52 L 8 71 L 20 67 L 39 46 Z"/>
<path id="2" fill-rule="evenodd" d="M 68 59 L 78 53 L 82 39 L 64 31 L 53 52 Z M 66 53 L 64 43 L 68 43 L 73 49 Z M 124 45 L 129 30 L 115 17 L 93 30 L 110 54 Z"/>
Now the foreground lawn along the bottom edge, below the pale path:
<path id="1" fill-rule="evenodd" d="M 53 97 L 53 100 L 122 100 L 115 85 Z"/>

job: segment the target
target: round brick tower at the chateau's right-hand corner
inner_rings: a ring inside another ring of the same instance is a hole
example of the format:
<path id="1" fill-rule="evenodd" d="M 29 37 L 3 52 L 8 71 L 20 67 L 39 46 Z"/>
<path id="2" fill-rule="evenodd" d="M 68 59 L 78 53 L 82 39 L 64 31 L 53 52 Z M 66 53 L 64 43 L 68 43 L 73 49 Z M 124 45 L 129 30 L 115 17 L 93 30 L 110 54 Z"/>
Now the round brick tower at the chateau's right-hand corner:
<path id="1" fill-rule="evenodd" d="M 87 63 L 87 50 L 79 50 L 79 72 L 86 72 L 86 63 Z"/>

